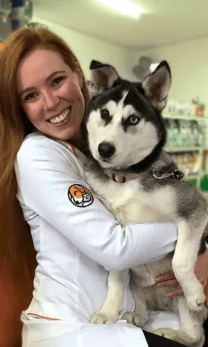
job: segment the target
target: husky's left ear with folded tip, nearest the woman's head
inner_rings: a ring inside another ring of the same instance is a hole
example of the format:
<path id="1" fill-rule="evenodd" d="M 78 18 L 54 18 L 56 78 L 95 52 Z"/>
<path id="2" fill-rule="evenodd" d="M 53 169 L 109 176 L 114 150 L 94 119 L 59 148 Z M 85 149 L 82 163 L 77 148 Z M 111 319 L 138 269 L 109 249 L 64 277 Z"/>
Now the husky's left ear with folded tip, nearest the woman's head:
<path id="1" fill-rule="evenodd" d="M 90 69 L 92 79 L 90 93 L 92 94 L 92 96 L 96 96 L 105 92 L 106 90 L 109 90 L 112 85 L 114 85 L 114 83 L 119 79 L 119 75 L 111 65 L 92 60 Z"/>

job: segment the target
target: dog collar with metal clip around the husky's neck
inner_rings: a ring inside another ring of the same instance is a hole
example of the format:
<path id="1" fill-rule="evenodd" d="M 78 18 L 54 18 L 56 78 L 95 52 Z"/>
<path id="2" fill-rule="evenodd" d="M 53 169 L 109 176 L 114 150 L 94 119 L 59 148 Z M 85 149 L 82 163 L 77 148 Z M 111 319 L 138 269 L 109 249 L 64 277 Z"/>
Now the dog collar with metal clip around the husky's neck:
<path id="1" fill-rule="evenodd" d="M 153 167 L 153 177 L 156 180 L 163 180 L 164 178 L 176 178 L 177 180 L 181 180 L 183 178 L 183 173 L 180 170 L 173 170 L 171 172 L 164 171 L 162 169 L 157 169 L 156 167 Z M 127 174 L 125 176 L 120 174 L 112 174 L 112 180 L 117 183 L 125 183 L 128 182 L 128 180 L 135 180 L 136 178 L 139 178 L 139 174 Z"/>

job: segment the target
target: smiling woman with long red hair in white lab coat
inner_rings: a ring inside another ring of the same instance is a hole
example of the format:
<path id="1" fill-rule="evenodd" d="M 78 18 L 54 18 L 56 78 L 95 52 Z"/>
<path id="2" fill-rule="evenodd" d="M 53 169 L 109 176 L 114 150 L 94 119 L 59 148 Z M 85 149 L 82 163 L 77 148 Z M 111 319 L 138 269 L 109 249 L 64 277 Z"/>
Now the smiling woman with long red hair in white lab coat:
<path id="1" fill-rule="evenodd" d="M 177 230 L 171 223 L 123 228 L 92 196 L 83 180 L 83 115 L 89 95 L 73 53 L 45 28 L 21 28 L 1 52 L 0 88 L 1 196 L 6 207 L 15 201 L 15 167 L 17 198 L 37 252 L 33 300 L 28 309 L 22 307 L 22 346 L 136 347 L 146 346 L 146 339 L 149 346 L 176 345 L 147 332 L 145 339 L 141 329 L 123 321 L 89 323 L 105 298 L 105 269 L 128 269 L 164 257 L 174 250 Z M 83 194 L 88 202 L 82 205 Z M 11 241 L 15 213 L 14 208 Z M 25 224 L 19 223 L 24 237 Z M 7 257 L 12 246 L 21 250 L 16 244 L 8 242 Z M 203 280 L 206 271 L 205 266 Z M 128 287 L 125 309 L 133 307 Z M 179 321 L 173 314 L 153 312 L 144 329 L 164 325 L 178 328 Z"/>

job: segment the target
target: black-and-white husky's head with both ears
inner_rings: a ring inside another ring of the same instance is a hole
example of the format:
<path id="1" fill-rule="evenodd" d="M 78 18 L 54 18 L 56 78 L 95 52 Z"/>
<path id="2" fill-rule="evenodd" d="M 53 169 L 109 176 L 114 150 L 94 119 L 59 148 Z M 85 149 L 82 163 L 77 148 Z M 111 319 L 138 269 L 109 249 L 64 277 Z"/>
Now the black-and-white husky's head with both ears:
<path id="1" fill-rule="evenodd" d="M 119 77 L 114 67 L 92 61 L 92 99 L 86 110 L 89 151 L 103 168 L 124 169 L 153 157 L 165 144 L 161 111 L 171 87 L 163 61 L 142 83 Z"/>

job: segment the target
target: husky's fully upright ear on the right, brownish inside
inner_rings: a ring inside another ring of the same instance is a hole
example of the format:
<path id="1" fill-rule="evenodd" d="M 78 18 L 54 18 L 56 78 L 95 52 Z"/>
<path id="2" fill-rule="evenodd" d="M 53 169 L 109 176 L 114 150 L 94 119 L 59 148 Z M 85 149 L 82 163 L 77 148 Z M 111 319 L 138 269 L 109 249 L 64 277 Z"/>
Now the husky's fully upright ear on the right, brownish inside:
<path id="1" fill-rule="evenodd" d="M 161 111 L 165 105 L 171 87 L 171 69 L 162 61 L 153 74 L 149 74 L 141 83 L 146 98 L 154 108 Z"/>

